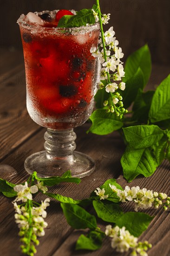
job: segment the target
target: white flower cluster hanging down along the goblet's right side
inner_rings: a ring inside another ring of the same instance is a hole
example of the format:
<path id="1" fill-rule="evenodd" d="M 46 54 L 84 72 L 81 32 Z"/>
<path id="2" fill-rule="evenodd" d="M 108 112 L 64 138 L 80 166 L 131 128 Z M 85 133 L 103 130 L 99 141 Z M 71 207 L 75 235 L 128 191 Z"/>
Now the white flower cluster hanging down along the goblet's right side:
<path id="1" fill-rule="evenodd" d="M 101 14 L 100 10 L 98 12 L 93 10 L 93 14 L 96 22 L 100 21 L 101 27 L 98 48 L 92 47 L 90 50 L 92 56 L 97 57 L 102 65 L 100 69 L 100 81 L 97 84 L 97 88 L 105 88 L 106 92 L 110 94 L 108 100 L 103 103 L 105 107 L 107 106 L 106 112 L 114 113 L 122 118 L 123 114 L 127 113 L 127 110 L 123 108 L 122 96 L 116 90 L 125 89 L 125 83 L 118 82 L 121 81 L 125 74 L 122 65 L 123 62 L 120 60 L 124 57 L 124 54 L 122 53 L 122 48 L 118 47 L 118 40 L 114 36 L 113 27 L 110 27 L 105 33 L 103 31 L 103 24 L 108 24 L 111 14 Z M 100 47 L 103 47 L 101 51 Z"/>

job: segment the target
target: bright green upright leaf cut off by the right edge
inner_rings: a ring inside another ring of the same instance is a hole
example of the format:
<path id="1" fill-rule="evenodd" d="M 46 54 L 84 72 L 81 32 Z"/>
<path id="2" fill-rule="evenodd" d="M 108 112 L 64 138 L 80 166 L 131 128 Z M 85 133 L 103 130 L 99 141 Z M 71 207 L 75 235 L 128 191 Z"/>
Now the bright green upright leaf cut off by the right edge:
<path id="1" fill-rule="evenodd" d="M 149 118 L 152 123 L 170 119 L 170 75 L 156 89 L 150 107 Z"/>

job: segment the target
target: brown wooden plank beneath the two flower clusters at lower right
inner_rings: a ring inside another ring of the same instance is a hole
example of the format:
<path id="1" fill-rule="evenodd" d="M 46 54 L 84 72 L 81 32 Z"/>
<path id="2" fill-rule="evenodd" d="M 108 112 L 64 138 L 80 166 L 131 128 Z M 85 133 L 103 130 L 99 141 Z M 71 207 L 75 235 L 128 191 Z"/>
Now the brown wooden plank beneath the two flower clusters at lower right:
<path id="1" fill-rule="evenodd" d="M 148 178 L 137 177 L 130 184 L 126 182 L 122 175 L 120 175 L 117 179 L 117 182 L 125 188 L 125 186 L 140 186 L 140 188 L 153 189 L 153 191 L 170 193 L 169 189 L 169 169 L 170 163 L 168 161 L 164 161 L 163 164 L 157 168 L 157 171 L 154 175 Z M 101 184 L 99 184 L 101 185 Z M 121 203 L 121 207 L 126 211 L 134 211 L 134 203 L 127 202 Z M 168 256 L 170 255 L 170 216 L 168 212 L 164 212 L 161 207 L 157 210 L 151 208 L 147 210 L 140 210 L 141 212 L 145 212 L 150 214 L 151 216 L 155 216 L 153 221 L 150 223 L 148 229 L 139 237 L 140 241 L 149 241 L 152 244 L 152 249 L 149 250 L 149 256 Z M 93 211 L 92 211 L 93 213 Z M 102 221 L 98 219 L 99 227 L 102 231 L 105 231 L 105 225 L 103 225 Z M 111 255 L 119 255 L 115 250 L 111 248 L 109 239 L 105 239 L 103 243 L 103 247 L 98 251 L 90 252 L 86 250 L 75 251 L 75 244 L 78 237 L 81 234 L 87 234 L 84 231 L 75 230 L 71 233 L 70 236 L 65 240 L 65 242 L 53 253 L 53 256 L 80 256 L 85 254 L 87 256 L 103 256 L 107 253 L 108 256 Z M 129 253 L 124 253 L 124 256 L 129 255 Z"/>

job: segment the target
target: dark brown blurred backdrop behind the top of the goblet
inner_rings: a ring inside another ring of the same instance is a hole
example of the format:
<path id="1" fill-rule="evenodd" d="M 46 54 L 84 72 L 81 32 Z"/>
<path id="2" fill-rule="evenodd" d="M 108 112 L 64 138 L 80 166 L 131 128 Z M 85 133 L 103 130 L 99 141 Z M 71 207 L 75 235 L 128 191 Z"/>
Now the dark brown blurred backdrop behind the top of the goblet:
<path id="1" fill-rule="evenodd" d="M 22 48 L 19 26 L 21 13 L 53 9 L 92 8 L 95 0 L 1 0 L 0 47 L 9 51 Z M 148 43 L 152 62 L 170 63 L 170 1 L 169 0 L 100 0 L 102 13 L 111 13 L 113 26 L 125 58 Z M 68 46 L 69 47 L 69 46 Z M 3 51 L 3 49 L 1 48 Z"/>

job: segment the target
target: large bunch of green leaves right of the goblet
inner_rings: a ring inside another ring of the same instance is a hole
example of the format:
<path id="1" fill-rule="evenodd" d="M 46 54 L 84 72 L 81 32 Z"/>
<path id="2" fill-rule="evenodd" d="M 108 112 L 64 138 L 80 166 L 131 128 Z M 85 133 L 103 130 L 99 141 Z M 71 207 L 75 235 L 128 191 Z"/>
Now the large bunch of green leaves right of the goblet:
<path id="1" fill-rule="evenodd" d="M 127 144 L 121 164 L 124 177 L 131 182 L 139 174 L 145 177 L 152 175 L 163 159 L 170 160 L 170 75 L 156 91 L 143 91 L 151 73 L 150 50 L 147 45 L 127 58 L 124 71 L 126 88 L 119 93 L 123 96 L 124 108 L 133 104 L 132 115 L 124 116 L 123 121 L 120 121 L 114 119 L 112 113 L 105 113 L 106 118 L 103 118 L 105 109 L 97 109 L 90 117 L 92 127 L 88 132 L 107 135 L 114 130 L 120 131 Z M 103 82 L 106 85 L 106 81 Z M 98 90 L 95 100 L 96 107 L 102 108 L 101 102 L 107 100 L 105 88 Z M 114 202 L 114 196 L 111 200 L 109 195 L 107 200 Z"/>

